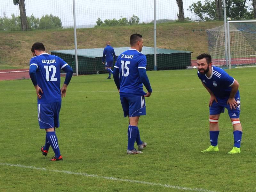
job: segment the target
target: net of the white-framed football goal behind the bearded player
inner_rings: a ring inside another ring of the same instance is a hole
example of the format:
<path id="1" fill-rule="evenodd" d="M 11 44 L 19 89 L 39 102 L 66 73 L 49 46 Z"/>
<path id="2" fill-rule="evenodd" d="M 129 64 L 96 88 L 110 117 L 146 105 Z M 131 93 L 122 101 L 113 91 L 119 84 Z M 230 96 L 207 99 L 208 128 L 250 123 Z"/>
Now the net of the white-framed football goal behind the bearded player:
<path id="1" fill-rule="evenodd" d="M 229 23 L 229 31 L 231 67 L 254 66 L 256 64 L 256 22 Z M 224 25 L 207 29 L 206 32 L 213 65 L 228 67 Z"/>

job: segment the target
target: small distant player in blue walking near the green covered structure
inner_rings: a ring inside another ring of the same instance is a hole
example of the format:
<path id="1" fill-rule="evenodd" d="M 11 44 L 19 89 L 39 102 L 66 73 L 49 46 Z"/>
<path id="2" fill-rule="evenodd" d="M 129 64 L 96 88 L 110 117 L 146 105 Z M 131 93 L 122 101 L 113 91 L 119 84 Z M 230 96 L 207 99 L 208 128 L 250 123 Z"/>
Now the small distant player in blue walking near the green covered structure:
<path id="1" fill-rule="evenodd" d="M 116 53 L 114 51 L 114 48 L 110 46 L 110 41 L 106 41 L 106 47 L 103 51 L 102 63 L 105 64 L 106 59 L 105 69 L 109 72 L 107 79 L 111 79 L 111 73 L 113 73 L 113 71 L 111 70 L 114 62 L 113 56 L 116 60 Z"/>

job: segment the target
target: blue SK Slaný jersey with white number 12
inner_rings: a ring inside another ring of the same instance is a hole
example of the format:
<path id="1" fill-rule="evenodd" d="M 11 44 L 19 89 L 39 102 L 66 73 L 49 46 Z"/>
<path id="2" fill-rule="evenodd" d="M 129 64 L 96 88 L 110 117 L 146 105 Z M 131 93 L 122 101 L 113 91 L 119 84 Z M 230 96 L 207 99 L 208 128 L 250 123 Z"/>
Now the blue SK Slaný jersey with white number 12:
<path id="1" fill-rule="evenodd" d="M 68 64 L 60 57 L 43 53 L 31 58 L 30 66 L 36 65 L 37 84 L 43 90 L 41 99 L 37 98 L 38 104 L 61 101 L 60 94 L 60 69 Z"/>

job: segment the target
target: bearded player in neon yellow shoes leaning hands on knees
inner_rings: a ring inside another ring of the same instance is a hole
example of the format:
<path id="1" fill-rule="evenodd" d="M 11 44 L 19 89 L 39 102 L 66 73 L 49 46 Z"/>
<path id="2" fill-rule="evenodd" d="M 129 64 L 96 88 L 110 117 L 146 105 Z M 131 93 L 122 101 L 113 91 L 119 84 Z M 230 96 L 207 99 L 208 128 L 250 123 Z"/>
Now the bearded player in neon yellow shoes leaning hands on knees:
<path id="1" fill-rule="evenodd" d="M 198 77 L 202 84 L 210 93 L 210 142 L 211 146 L 202 153 L 219 151 L 219 118 L 224 109 L 228 109 L 228 115 L 234 128 L 234 147 L 228 154 L 240 153 L 240 144 L 242 140 L 242 126 L 240 123 L 240 95 L 238 91 L 238 82 L 226 71 L 212 66 L 212 57 L 203 53 L 197 56 Z"/>

